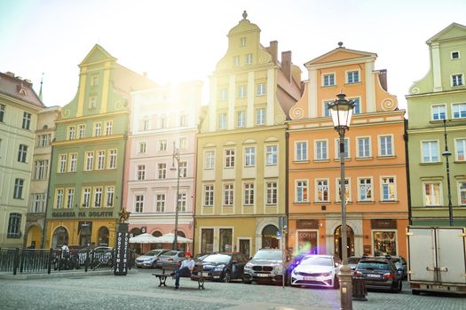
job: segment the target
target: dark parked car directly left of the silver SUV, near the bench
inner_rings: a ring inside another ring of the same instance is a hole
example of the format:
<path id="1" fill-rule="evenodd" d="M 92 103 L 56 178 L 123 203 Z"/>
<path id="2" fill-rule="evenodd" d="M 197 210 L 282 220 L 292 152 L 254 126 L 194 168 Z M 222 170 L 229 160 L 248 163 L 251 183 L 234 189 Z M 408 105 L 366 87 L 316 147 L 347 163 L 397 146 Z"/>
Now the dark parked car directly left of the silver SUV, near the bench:
<path id="1" fill-rule="evenodd" d="M 217 252 L 207 255 L 202 261 L 202 275 L 206 279 L 229 283 L 243 277 L 248 258 L 241 253 Z"/>

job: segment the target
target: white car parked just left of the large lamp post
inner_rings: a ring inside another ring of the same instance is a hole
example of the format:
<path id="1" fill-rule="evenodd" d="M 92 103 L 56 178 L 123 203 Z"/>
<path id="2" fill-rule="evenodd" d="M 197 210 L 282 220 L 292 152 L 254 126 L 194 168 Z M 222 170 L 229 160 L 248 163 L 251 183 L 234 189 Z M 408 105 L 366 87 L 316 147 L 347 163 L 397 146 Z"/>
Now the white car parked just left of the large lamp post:
<path id="1" fill-rule="evenodd" d="M 291 272 L 291 285 L 338 288 L 341 260 L 334 255 L 307 255 Z"/>

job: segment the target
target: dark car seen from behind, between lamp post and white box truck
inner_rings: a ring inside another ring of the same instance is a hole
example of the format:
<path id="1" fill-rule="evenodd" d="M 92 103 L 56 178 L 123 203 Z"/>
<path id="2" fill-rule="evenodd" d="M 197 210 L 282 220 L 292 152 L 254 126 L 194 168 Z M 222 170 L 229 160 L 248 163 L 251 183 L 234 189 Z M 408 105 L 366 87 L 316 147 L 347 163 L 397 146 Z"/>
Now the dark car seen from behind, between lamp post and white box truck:
<path id="1" fill-rule="evenodd" d="M 385 289 L 399 292 L 402 288 L 403 269 L 397 269 L 390 258 L 367 256 L 359 260 L 355 276 L 362 276 L 367 289 Z"/>

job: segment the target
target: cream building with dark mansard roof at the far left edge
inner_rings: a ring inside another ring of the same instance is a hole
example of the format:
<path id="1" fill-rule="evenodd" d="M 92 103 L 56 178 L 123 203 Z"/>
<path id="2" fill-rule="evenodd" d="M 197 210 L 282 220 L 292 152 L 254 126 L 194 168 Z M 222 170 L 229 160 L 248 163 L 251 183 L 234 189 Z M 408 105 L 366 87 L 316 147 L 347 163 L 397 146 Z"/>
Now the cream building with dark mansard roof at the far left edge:
<path id="1" fill-rule="evenodd" d="M 0 73 L 0 247 L 22 247 L 38 113 L 32 82 Z"/>

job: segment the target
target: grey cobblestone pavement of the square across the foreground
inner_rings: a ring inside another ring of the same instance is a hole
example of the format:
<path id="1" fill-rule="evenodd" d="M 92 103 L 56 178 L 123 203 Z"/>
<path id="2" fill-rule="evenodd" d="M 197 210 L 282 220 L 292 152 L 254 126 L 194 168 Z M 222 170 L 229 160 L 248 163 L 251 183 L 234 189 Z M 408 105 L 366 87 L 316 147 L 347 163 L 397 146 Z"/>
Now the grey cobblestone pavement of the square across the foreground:
<path id="1" fill-rule="evenodd" d="M 0 309 L 339 309 L 339 291 L 243 283 L 197 283 L 181 279 L 179 291 L 158 287 L 151 270 L 126 276 L 76 274 L 29 280 L 0 279 Z M 466 297 L 413 296 L 404 283 L 399 294 L 369 291 L 367 301 L 353 301 L 354 310 L 466 310 Z"/>

